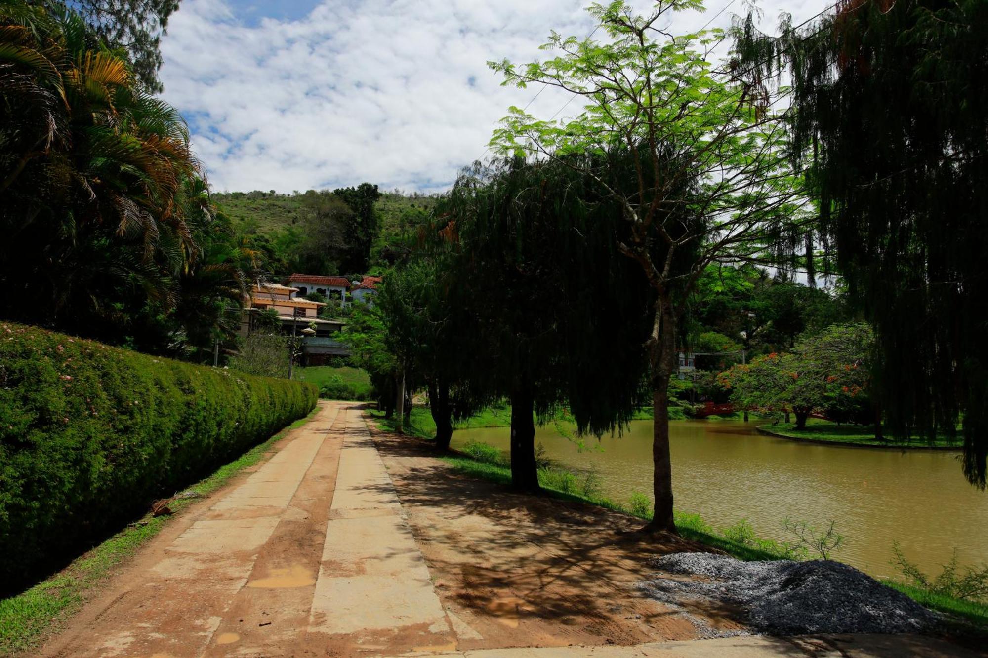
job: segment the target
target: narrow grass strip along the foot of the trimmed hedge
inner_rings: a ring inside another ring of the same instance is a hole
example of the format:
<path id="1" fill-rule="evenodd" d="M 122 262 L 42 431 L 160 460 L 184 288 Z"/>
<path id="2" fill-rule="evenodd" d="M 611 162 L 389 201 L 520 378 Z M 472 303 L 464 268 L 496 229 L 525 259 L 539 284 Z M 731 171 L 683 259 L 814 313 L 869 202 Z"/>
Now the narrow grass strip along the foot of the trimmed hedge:
<path id="1" fill-rule="evenodd" d="M 252 466 L 280 440 L 285 432 L 304 425 L 317 409 L 268 441 L 244 452 L 237 459 L 220 466 L 212 475 L 186 488 L 207 496 L 248 466 Z M 175 514 L 195 498 L 169 503 Z M 0 599 L 0 654 L 25 651 L 37 645 L 43 635 L 77 611 L 114 569 L 148 539 L 157 535 L 171 517 L 150 515 L 113 535 L 100 545 L 76 558 L 71 564 L 31 589 L 8 599 Z"/>

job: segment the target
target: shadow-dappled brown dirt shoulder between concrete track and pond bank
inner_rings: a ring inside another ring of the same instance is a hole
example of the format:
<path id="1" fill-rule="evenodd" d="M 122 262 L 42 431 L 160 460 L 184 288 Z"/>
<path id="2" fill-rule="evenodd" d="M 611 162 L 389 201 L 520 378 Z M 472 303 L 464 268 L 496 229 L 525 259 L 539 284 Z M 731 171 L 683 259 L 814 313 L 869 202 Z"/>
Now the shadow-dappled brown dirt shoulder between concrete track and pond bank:
<path id="1" fill-rule="evenodd" d="M 371 431 L 444 606 L 475 632 L 460 649 L 630 645 L 741 631 L 730 610 L 694 623 L 638 593 L 645 559 L 704 547 L 626 535 L 637 519 L 519 495 L 455 473 L 428 442 Z"/>

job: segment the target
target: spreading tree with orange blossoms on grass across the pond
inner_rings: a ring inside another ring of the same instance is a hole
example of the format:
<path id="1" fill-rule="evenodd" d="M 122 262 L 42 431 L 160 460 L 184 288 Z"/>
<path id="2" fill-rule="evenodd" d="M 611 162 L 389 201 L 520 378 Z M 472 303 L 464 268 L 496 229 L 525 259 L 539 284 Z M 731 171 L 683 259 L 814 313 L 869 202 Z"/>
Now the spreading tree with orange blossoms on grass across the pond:
<path id="1" fill-rule="evenodd" d="M 862 422 L 873 412 L 868 389 L 874 337 L 861 322 L 831 325 L 773 353 L 718 375 L 738 406 L 768 414 L 791 411 L 796 428 L 812 413 Z"/>

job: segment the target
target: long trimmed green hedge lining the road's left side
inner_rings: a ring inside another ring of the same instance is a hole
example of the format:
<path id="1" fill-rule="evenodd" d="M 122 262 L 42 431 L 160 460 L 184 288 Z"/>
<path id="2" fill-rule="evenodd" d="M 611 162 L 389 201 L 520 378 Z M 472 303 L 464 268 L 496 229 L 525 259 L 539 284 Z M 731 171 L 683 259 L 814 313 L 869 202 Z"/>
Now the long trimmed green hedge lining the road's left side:
<path id="1" fill-rule="evenodd" d="M 0 582 L 119 527 L 317 398 L 312 384 L 0 322 Z"/>

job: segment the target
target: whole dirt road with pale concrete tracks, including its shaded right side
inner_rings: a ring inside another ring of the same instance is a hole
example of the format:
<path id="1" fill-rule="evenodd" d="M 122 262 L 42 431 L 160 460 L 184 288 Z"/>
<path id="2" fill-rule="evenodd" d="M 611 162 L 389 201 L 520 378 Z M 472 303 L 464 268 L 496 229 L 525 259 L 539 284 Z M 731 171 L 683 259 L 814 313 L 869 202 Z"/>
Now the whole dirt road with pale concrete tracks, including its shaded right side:
<path id="1" fill-rule="evenodd" d="M 463 478 L 424 442 L 371 433 L 358 405 L 320 405 L 41 655 L 963 655 L 909 636 L 701 639 L 744 628 L 635 588 L 645 557 L 689 545 L 631 541 L 614 532 L 623 515 Z"/>

